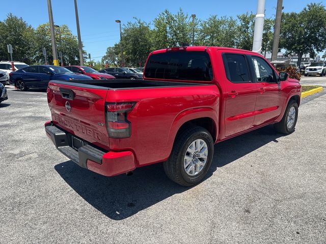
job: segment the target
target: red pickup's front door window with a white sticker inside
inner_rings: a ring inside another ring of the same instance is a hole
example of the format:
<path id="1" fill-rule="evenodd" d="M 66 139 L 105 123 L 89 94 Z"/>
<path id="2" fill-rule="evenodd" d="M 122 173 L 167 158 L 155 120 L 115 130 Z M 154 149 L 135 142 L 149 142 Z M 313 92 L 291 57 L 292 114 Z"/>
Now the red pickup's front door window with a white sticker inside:
<path id="1" fill-rule="evenodd" d="M 260 57 L 251 57 L 257 82 L 274 82 L 274 72 L 266 61 Z"/>

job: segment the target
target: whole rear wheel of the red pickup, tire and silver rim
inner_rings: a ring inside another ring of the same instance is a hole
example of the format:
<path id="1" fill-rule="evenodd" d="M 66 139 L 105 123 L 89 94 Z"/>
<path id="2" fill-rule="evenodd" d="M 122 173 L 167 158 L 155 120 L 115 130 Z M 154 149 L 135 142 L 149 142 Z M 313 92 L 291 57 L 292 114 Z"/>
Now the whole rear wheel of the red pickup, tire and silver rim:
<path id="1" fill-rule="evenodd" d="M 210 168 L 214 142 L 202 127 L 188 127 L 178 133 L 164 171 L 177 184 L 189 187 L 203 180 Z"/>

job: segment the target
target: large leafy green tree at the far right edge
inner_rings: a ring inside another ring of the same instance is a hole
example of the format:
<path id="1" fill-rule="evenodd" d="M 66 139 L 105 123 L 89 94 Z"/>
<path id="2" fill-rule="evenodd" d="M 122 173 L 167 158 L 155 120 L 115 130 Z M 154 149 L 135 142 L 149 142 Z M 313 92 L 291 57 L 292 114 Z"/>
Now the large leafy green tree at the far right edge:
<path id="1" fill-rule="evenodd" d="M 283 13 L 280 46 L 298 55 L 326 49 L 326 9 L 322 4 L 308 4 L 300 13 Z"/>

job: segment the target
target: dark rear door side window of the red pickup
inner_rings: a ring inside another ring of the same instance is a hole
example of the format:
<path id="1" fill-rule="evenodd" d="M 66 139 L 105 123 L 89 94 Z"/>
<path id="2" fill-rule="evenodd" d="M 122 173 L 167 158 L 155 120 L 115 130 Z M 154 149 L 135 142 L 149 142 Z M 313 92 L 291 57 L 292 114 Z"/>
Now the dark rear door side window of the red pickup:
<path id="1" fill-rule="evenodd" d="M 241 54 L 223 54 L 225 73 L 233 83 L 251 82 L 246 58 Z"/>

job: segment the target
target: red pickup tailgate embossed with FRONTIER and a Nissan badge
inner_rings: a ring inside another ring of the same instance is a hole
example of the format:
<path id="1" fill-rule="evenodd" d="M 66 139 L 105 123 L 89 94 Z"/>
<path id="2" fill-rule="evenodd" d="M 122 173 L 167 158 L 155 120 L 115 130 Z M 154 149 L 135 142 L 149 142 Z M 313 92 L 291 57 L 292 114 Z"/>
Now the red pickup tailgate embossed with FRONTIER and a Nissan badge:
<path id="1" fill-rule="evenodd" d="M 47 99 L 53 124 L 108 150 L 104 112 L 107 88 L 101 88 L 49 82 Z"/>

